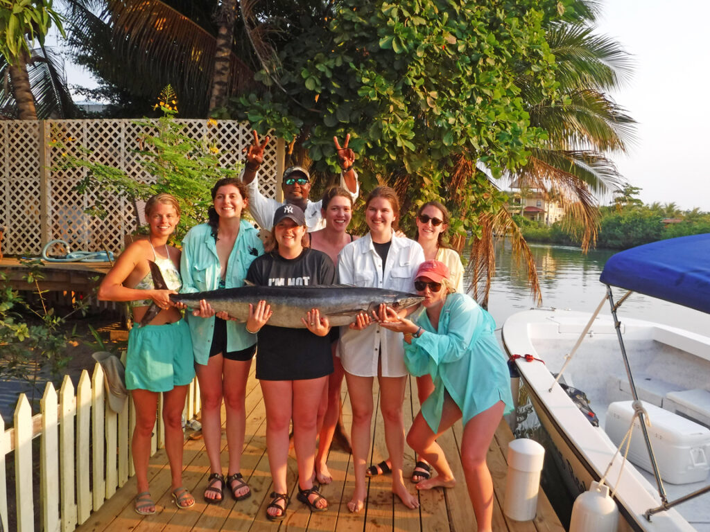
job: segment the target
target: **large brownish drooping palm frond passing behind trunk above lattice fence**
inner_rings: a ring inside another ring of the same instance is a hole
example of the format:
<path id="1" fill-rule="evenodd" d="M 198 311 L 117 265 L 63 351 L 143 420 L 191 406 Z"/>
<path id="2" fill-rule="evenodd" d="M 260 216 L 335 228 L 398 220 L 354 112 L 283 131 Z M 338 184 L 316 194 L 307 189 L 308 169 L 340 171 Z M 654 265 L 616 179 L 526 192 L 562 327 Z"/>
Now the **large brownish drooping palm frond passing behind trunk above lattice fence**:
<path id="1" fill-rule="evenodd" d="M 80 5 L 86 2 L 72 5 L 70 43 L 94 60 L 105 57 L 93 65 L 104 79 L 148 97 L 170 83 L 181 114 L 206 113 L 217 49 L 212 33 L 160 0 L 108 0 L 98 15 Z M 246 63 L 234 52 L 229 61 L 228 94 L 257 89 Z"/>

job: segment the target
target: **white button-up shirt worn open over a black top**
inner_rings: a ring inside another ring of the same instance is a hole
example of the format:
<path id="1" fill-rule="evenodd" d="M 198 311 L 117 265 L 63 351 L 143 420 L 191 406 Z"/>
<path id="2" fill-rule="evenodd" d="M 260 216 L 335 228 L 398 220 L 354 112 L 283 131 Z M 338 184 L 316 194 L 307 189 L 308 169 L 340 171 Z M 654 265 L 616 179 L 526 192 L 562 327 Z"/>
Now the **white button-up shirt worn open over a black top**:
<path id="1" fill-rule="evenodd" d="M 383 272 L 382 259 L 368 233 L 346 245 L 338 255 L 339 282 L 415 293 L 414 276 L 422 262 L 422 246 L 409 238 L 393 236 Z M 378 324 L 363 331 L 341 327 L 338 353 L 343 367 L 351 375 L 377 377 L 378 360 L 383 377 L 407 374 L 402 333 L 388 331 Z"/>

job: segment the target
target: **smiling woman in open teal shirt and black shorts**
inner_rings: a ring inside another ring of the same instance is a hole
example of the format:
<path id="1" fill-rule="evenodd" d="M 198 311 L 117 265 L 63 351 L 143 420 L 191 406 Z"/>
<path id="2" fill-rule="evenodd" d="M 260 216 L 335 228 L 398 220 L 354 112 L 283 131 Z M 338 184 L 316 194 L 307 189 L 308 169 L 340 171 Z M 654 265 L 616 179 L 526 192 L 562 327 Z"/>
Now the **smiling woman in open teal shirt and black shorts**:
<path id="1" fill-rule="evenodd" d="M 241 287 L 251 262 L 263 254 L 255 228 L 241 219 L 249 204 L 246 186 L 239 179 L 225 178 L 212 187 L 213 206 L 209 220 L 195 226 L 182 240 L 182 293 Z M 192 332 L 197 380 L 202 399 L 202 436 L 209 457 L 210 475 L 204 499 L 219 504 L 224 488 L 241 501 L 251 495 L 240 472 L 246 429 L 246 380 L 256 338 L 244 323 L 215 316 L 207 303 L 187 315 Z M 227 476 L 222 476 L 221 407 L 226 411 L 226 440 L 229 448 Z"/>

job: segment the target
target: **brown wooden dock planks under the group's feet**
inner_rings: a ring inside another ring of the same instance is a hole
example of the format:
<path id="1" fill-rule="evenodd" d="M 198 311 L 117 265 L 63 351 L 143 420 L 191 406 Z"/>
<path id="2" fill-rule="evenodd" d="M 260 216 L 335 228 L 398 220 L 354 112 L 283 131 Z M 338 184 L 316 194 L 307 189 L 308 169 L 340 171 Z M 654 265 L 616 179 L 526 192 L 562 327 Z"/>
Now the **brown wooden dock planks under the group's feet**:
<path id="1" fill-rule="evenodd" d="M 386 458 L 387 449 L 384 441 L 382 416 L 378 409 L 379 389 L 377 383 L 373 389 L 373 401 L 376 404 L 376 416 L 373 421 L 372 462 Z M 343 397 L 347 398 L 343 387 Z M 444 452 L 449 458 L 458 483 L 452 489 L 435 489 L 420 492 L 420 508 L 407 509 L 391 492 L 391 477 L 374 477 L 369 483 L 368 504 L 360 514 L 351 514 L 347 509 L 354 489 L 353 466 L 351 455 L 334 446 L 329 455 L 328 466 L 333 475 L 333 482 L 322 487 L 322 493 L 328 499 L 329 511 L 311 514 L 307 507 L 297 501 L 297 470 L 293 450 L 288 461 L 288 486 L 290 504 L 288 517 L 282 523 L 272 523 L 266 519 L 266 506 L 271 500 L 271 473 L 266 454 L 266 420 L 261 389 L 254 377 L 252 368 L 247 386 L 246 397 L 246 443 L 241 460 L 241 472 L 251 487 L 252 496 L 236 502 L 229 492 L 225 492 L 222 504 L 207 504 L 202 498 L 209 476 L 209 461 L 204 452 L 203 440 L 185 442 L 183 480 L 185 487 L 195 496 L 196 504 L 190 509 L 179 510 L 170 497 L 170 467 L 165 450 L 160 450 L 151 458 L 148 472 L 151 480 L 151 493 L 158 505 L 158 512 L 153 516 L 138 516 L 133 511 L 133 497 L 136 495 L 136 483 L 131 479 L 116 491 L 104 503 L 99 511 L 94 512 L 86 523 L 77 528 L 81 532 L 136 532 L 157 531 L 247 531 L 273 532 L 361 532 L 361 531 L 396 531 L 396 532 L 464 532 L 475 526 L 475 518 L 466 482 L 461 467 L 459 442 L 461 423 L 454 425 L 451 431 L 439 438 Z M 405 391 L 405 427 L 408 428 L 413 417 L 419 411 L 415 378 Z M 224 419 L 224 415 L 222 416 Z M 351 409 L 349 401 L 344 404 L 343 418 L 349 428 Z M 512 521 L 502 513 L 503 490 L 506 484 L 506 453 L 508 442 L 513 434 L 501 421 L 496 437 L 488 450 L 488 465 L 493 476 L 494 501 L 493 529 L 508 532 L 562 532 L 557 516 L 552 511 L 550 502 L 540 490 L 537 503 L 537 516 L 534 521 Z M 222 435 L 222 470 L 226 473 L 227 453 L 226 436 Z M 409 482 L 414 467 L 414 453 L 405 449 L 405 482 L 415 493 L 415 485 Z"/>

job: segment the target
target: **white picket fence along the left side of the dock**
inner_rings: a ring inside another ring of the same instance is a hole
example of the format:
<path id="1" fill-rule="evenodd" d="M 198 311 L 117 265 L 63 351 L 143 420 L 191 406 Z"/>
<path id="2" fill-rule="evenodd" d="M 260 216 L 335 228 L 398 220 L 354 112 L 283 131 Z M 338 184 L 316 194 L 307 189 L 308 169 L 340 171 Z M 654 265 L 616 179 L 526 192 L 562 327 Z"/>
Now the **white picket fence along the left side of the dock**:
<path id="1" fill-rule="evenodd" d="M 8 526 L 6 457 L 14 451 L 16 529 L 70 532 L 89 519 L 92 511 L 110 499 L 116 489 L 134 474 L 131 434 L 135 426 L 133 401 L 129 398 L 120 414 L 108 408 L 104 372 L 97 364 L 92 377 L 82 371 L 76 392 L 65 375 L 59 395 L 47 383 L 40 402 L 40 414 L 32 415 L 22 394 L 14 414 L 13 428 L 5 430 L 0 416 L 0 519 Z M 158 404 L 157 428 L 153 431 L 151 455 L 165 444 L 162 422 L 163 400 Z M 185 401 L 185 418 L 200 411 L 197 379 L 190 384 Z M 39 456 L 33 453 L 33 439 L 40 438 Z M 39 477 L 33 465 L 39 461 Z M 40 484 L 39 500 L 33 485 Z"/>

